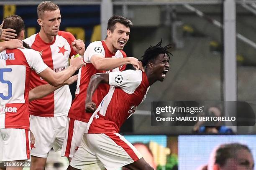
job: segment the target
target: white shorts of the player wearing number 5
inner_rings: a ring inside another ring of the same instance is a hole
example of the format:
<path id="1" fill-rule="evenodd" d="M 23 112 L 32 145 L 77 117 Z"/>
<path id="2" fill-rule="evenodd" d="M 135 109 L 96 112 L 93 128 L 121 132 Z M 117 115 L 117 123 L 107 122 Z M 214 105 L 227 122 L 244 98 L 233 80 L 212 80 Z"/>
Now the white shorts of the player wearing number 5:
<path id="1" fill-rule="evenodd" d="M 30 159 L 30 133 L 25 129 L 0 129 L 0 162 Z"/>

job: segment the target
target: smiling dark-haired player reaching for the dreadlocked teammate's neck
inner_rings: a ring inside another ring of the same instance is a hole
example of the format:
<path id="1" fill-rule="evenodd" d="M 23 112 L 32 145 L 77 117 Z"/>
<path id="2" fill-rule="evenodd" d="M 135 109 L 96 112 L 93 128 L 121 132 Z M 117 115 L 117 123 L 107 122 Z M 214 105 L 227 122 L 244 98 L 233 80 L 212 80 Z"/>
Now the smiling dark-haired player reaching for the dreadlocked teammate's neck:
<path id="1" fill-rule="evenodd" d="M 90 77 L 95 73 L 123 71 L 126 64 L 132 64 L 136 69 L 143 69 L 141 62 L 134 57 L 126 57 L 123 47 L 130 37 L 130 20 L 114 15 L 108 20 L 107 37 L 102 41 L 90 43 L 84 53 L 86 67 L 79 70 L 76 97 L 69 110 L 66 135 L 61 150 L 61 156 L 72 158 L 79 147 L 87 122 L 92 113 L 84 112 L 86 91 Z M 98 87 L 92 101 L 98 106 L 108 93 L 109 85 Z"/>

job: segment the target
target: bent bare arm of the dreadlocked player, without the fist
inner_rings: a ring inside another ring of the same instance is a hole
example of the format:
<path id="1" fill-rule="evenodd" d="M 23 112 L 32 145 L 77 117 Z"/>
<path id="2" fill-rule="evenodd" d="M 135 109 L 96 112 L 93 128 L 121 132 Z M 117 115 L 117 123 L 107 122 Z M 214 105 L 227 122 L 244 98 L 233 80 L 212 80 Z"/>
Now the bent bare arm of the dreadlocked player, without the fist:
<path id="1" fill-rule="evenodd" d="M 92 75 L 89 85 L 87 87 L 87 96 L 85 102 L 92 101 L 92 95 L 94 94 L 95 90 L 97 89 L 100 83 L 109 84 L 108 77 L 109 73 L 97 73 L 95 75 Z"/>

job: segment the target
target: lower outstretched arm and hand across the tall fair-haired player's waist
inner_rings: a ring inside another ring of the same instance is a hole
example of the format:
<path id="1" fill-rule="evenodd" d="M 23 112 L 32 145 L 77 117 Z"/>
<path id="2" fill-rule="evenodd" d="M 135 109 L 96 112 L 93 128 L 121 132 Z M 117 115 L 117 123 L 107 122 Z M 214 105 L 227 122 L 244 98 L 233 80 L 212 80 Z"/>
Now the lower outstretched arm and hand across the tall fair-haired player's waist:
<path id="1" fill-rule="evenodd" d="M 73 84 L 73 82 L 77 81 L 77 76 L 78 75 L 74 75 L 74 76 L 70 77 L 62 85 L 59 85 L 57 87 L 54 87 L 49 84 L 37 86 L 29 91 L 28 100 L 32 101 L 32 100 L 36 100 L 36 99 L 45 97 L 46 95 L 49 95 L 51 92 L 54 92 L 55 90 L 59 89 L 60 87 L 62 87 L 64 85 L 71 85 L 71 84 Z"/>

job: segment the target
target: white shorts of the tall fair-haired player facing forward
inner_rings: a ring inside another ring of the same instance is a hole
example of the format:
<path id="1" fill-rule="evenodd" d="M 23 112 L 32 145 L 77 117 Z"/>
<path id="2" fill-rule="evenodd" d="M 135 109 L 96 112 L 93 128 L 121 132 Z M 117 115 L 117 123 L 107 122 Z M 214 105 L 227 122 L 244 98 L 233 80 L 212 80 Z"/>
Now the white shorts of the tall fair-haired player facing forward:
<path id="1" fill-rule="evenodd" d="M 47 158 L 51 148 L 61 150 L 67 115 L 57 117 L 40 117 L 30 115 L 30 130 L 35 136 L 35 144 L 31 148 L 31 155 Z"/>

